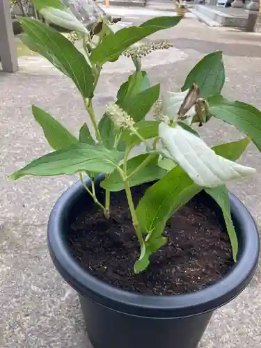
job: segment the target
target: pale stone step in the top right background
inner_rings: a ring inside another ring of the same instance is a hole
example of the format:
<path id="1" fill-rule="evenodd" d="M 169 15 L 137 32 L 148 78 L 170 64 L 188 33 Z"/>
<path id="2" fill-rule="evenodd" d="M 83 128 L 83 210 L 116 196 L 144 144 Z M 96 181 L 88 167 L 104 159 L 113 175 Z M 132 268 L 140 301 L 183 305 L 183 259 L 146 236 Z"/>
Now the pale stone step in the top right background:
<path id="1" fill-rule="evenodd" d="M 232 26 L 236 28 L 245 28 L 248 11 L 238 8 L 220 8 L 216 6 L 195 5 L 191 12 L 205 24 L 210 26 Z"/>

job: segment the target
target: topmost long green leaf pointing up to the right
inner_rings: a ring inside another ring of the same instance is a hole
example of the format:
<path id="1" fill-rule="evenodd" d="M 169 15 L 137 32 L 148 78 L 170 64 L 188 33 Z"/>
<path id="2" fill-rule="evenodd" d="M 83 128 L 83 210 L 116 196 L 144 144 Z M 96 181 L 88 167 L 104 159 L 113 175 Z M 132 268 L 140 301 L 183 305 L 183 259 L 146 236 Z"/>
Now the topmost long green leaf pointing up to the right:
<path id="1" fill-rule="evenodd" d="M 180 22 L 181 16 L 156 17 L 141 24 L 141 26 L 129 26 L 120 29 L 116 33 L 107 35 L 102 43 L 93 49 L 91 60 L 104 64 L 107 61 L 116 61 L 118 56 L 135 42 L 156 31 L 168 29 Z"/>

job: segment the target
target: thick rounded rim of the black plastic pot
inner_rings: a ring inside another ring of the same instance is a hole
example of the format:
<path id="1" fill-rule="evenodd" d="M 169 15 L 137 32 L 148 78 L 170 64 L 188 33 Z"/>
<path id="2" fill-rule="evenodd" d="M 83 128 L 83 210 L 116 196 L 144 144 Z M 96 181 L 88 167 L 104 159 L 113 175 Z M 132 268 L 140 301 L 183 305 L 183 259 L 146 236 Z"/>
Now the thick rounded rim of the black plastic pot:
<path id="1" fill-rule="evenodd" d="M 90 183 L 87 179 L 86 184 Z M 213 285 L 182 295 L 142 295 L 120 290 L 98 280 L 77 263 L 63 237 L 68 210 L 86 191 L 76 182 L 59 198 L 48 223 L 49 252 L 56 269 L 81 295 L 103 306 L 142 317 L 187 317 L 206 313 L 235 298 L 248 283 L 258 265 L 260 242 L 253 217 L 243 203 L 230 193 L 232 219 L 242 235 L 242 253 L 234 267 Z"/>

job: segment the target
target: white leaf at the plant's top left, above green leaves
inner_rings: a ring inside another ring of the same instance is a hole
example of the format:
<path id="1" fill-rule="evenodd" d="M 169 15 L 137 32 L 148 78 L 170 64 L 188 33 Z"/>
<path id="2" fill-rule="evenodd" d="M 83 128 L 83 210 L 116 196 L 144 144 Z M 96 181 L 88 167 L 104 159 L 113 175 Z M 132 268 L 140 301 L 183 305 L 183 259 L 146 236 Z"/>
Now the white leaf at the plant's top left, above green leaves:
<path id="1" fill-rule="evenodd" d="M 88 33 L 84 24 L 70 12 L 70 10 L 59 10 L 58 8 L 46 7 L 40 10 L 42 17 L 52 24 L 56 24 L 65 29 Z"/>

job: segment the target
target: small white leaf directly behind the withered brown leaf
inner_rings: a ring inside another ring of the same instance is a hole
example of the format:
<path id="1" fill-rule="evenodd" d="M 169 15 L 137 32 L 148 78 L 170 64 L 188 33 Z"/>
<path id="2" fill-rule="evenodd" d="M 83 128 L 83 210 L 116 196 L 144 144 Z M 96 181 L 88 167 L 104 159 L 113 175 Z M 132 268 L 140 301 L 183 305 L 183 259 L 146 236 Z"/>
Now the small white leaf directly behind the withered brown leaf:
<path id="1" fill-rule="evenodd" d="M 180 110 L 180 106 L 182 105 L 182 102 L 184 101 L 184 98 L 186 97 L 187 93 L 189 93 L 189 90 L 184 90 L 184 92 L 167 92 L 165 95 L 162 96 L 162 112 L 164 115 L 171 118 L 171 120 L 177 119 L 177 113 Z M 195 106 L 192 106 L 189 111 L 184 115 L 186 117 L 182 122 L 184 122 L 186 125 L 191 125 L 191 122 L 193 120 L 193 117 L 196 115 Z"/>

